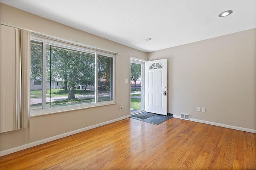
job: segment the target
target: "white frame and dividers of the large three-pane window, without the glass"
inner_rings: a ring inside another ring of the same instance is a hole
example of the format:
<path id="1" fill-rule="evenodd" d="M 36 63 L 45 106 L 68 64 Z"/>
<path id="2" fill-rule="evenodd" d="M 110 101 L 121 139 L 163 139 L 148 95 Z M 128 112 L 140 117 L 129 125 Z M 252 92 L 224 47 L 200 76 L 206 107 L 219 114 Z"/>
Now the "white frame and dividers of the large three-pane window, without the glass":
<path id="1" fill-rule="evenodd" d="M 72 110 L 78 110 L 78 109 L 86 109 L 91 107 L 99 107 L 104 105 L 112 105 L 115 104 L 115 58 L 116 55 L 112 53 L 107 53 L 104 51 L 98 51 L 96 49 L 90 49 L 86 47 L 86 45 L 76 45 L 76 43 L 70 43 L 69 41 L 63 41 L 63 40 L 57 40 L 53 38 L 46 38 L 44 36 L 38 36 L 31 34 L 30 36 L 30 43 L 31 42 L 39 42 L 42 43 L 42 109 L 35 109 L 30 111 L 30 117 L 34 116 L 40 116 L 40 115 L 48 115 L 48 114 L 54 114 L 54 113 L 61 113 L 66 111 L 72 111 Z M 66 48 L 69 50 L 74 51 L 80 51 L 85 53 L 91 53 L 95 55 L 95 82 L 94 82 L 94 95 L 95 95 L 95 102 L 94 103 L 82 103 L 77 105 L 69 105 L 69 106 L 62 106 L 62 107 L 54 107 L 54 108 L 46 108 L 46 93 L 43 93 L 46 91 L 46 43 L 55 45 L 58 47 Z M 104 56 L 104 57 L 110 57 L 112 58 L 111 63 L 111 100 L 110 101 L 100 101 L 98 102 L 98 55 Z"/>

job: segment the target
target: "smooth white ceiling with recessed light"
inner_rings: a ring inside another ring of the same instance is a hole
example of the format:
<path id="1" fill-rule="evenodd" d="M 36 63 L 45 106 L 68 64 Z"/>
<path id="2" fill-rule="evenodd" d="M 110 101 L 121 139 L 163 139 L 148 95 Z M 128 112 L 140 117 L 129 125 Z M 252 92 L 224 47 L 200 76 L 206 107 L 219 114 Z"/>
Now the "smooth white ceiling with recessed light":
<path id="1" fill-rule="evenodd" d="M 256 28 L 256 0 L 0 2 L 145 52 Z M 233 13 L 218 17 L 226 10 Z"/>

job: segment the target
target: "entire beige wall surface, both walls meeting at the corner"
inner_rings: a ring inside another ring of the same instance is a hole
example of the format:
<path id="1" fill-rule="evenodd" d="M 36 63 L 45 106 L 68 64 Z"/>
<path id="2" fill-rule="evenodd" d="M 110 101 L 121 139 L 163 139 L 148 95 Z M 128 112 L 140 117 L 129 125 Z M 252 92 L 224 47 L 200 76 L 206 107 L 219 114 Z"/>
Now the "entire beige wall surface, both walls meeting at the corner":
<path id="1" fill-rule="evenodd" d="M 117 104 L 32 117 L 31 139 L 26 129 L 0 133 L 0 151 L 128 116 L 129 56 L 168 59 L 168 113 L 256 130 L 256 29 L 147 54 L 4 4 L 0 22 L 120 53 Z"/>

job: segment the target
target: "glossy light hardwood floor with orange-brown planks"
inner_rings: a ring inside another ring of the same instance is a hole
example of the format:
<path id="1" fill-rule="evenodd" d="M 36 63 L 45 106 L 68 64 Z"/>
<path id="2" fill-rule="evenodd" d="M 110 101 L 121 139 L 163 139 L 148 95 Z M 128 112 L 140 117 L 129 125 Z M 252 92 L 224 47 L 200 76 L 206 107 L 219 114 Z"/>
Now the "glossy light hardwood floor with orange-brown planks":
<path id="1" fill-rule="evenodd" d="M 129 118 L 2 156 L 0 169 L 256 169 L 256 134 Z"/>

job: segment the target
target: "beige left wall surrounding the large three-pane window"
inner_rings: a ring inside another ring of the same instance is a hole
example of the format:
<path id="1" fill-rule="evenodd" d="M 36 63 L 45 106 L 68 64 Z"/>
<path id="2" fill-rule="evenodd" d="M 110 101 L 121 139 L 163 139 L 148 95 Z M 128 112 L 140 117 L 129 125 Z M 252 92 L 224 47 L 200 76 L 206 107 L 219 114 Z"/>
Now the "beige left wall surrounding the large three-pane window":
<path id="1" fill-rule="evenodd" d="M 115 64 L 115 101 L 117 104 L 32 117 L 30 141 L 28 141 L 28 132 L 26 129 L 0 133 L 0 151 L 104 123 L 130 114 L 130 84 L 125 83 L 125 79 L 129 79 L 129 57 L 132 56 L 146 60 L 147 53 L 46 20 L 1 3 L 0 22 L 120 53 L 116 55 Z M 123 105 L 122 110 L 119 109 L 120 104 Z"/>

